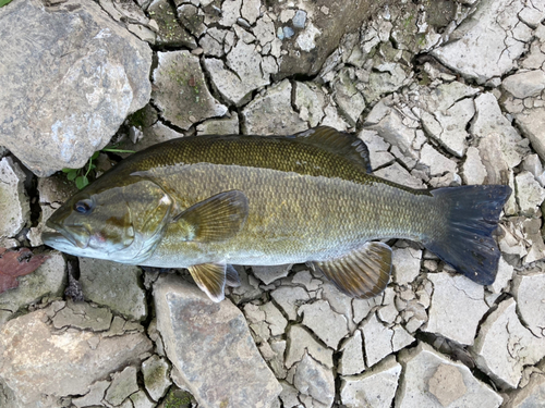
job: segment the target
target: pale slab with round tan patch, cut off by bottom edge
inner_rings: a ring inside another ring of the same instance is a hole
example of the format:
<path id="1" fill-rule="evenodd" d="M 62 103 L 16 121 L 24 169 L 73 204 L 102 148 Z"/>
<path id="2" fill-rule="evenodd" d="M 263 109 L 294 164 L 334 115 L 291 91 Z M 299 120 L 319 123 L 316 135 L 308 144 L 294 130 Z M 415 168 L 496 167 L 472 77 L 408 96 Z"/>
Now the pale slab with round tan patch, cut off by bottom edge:
<path id="1" fill-rule="evenodd" d="M 447 406 L 497 408 L 501 405 L 502 398 L 475 379 L 468 367 L 440 355 L 425 343 L 402 350 L 399 354 L 399 362 L 403 367 L 403 376 L 397 393 L 396 408 Z M 451 390 L 450 383 L 458 384 L 459 387 Z M 441 404 L 449 400 L 455 405 Z"/>

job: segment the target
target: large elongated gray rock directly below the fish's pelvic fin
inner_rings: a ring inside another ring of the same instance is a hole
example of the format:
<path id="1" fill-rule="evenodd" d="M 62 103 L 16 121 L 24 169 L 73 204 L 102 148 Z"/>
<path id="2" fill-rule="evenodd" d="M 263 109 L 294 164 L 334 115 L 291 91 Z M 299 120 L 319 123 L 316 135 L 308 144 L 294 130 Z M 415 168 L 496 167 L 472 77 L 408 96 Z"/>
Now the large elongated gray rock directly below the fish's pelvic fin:
<path id="1" fill-rule="evenodd" d="M 161 276 L 154 285 L 157 327 L 169 360 L 203 407 L 267 407 L 281 387 L 229 300 L 211 302 L 195 285 Z"/>

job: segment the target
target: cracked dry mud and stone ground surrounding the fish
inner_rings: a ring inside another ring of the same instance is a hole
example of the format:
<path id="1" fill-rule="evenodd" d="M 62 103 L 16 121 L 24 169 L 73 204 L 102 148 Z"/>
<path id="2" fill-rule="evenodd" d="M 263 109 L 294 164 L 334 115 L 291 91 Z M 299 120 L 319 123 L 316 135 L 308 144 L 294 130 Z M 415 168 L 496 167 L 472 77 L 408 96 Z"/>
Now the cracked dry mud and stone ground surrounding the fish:
<path id="1" fill-rule="evenodd" d="M 387 3 L 0 8 L 0 246 L 51 255 L 0 294 L 1 407 L 545 404 L 545 3 Z M 249 265 L 211 304 L 183 271 L 41 246 L 75 190 L 51 174 L 110 139 L 320 124 L 358 134 L 375 174 L 407 186 L 509 184 L 494 284 L 396 240 L 373 299 L 305 265 Z"/>

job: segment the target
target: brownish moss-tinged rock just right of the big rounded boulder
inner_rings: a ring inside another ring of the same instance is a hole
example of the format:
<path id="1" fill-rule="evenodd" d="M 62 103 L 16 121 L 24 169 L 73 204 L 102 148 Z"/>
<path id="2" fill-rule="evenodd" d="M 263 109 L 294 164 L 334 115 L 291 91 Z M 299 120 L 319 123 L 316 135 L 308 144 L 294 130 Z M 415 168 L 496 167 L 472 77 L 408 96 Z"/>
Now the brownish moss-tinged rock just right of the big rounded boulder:
<path id="1" fill-rule="evenodd" d="M 157 57 L 157 90 L 152 97 L 166 120 L 187 129 L 195 122 L 227 113 L 227 107 L 208 91 L 197 57 L 189 51 L 158 52 Z"/>

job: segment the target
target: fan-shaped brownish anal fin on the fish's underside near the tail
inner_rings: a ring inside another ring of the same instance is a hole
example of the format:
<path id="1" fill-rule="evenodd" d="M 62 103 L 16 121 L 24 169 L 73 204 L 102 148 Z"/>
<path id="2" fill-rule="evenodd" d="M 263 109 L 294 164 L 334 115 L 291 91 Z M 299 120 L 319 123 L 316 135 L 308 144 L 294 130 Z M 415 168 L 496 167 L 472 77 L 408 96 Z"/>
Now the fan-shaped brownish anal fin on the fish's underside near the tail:
<path id="1" fill-rule="evenodd" d="M 383 243 L 365 243 L 340 258 L 314 264 L 341 292 L 365 299 L 386 288 L 391 272 L 391 248 Z"/>

